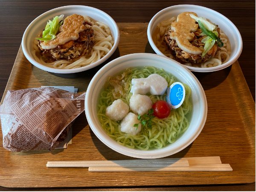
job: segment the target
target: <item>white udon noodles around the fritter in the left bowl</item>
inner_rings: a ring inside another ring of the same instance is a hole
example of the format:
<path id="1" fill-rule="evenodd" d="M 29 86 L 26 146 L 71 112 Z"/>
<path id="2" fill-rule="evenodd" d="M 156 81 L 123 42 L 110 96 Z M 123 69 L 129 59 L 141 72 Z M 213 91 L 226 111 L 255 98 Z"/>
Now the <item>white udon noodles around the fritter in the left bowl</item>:
<path id="1" fill-rule="evenodd" d="M 87 66 L 104 57 L 111 50 L 114 44 L 113 36 L 109 27 L 105 23 L 95 21 L 88 16 L 84 16 L 84 20 L 93 24 L 91 28 L 95 34 L 95 43 L 88 55 L 82 56 L 73 63 L 63 59 L 47 63 L 41 57 L 40 50 L 38 48 L 38 41 L 35 39 L 33 44 L 33 56 L 35 60 L 38 63 L 55 69 L 74 69 Z"/>

